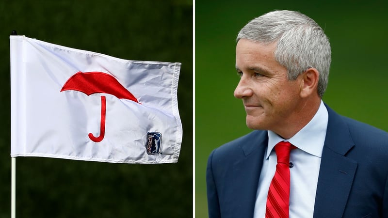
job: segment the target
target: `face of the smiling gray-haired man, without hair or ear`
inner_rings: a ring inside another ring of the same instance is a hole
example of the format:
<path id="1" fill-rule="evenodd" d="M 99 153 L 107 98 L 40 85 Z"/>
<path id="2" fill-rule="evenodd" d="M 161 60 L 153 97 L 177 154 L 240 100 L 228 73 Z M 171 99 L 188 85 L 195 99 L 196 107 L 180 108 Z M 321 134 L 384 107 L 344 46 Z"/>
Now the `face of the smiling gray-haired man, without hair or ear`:
<path id="1" fill-rule="evenodd" d="M 241 98 L 246 125 L 278 132 L 294 122 L 301 105 L 301 77 L 289 81 L 287 69 L 275 61 L 276 43 L 264 45 L 240 39 L 236 47 L 236 69 L 241 79 L 234 96 Z"/>

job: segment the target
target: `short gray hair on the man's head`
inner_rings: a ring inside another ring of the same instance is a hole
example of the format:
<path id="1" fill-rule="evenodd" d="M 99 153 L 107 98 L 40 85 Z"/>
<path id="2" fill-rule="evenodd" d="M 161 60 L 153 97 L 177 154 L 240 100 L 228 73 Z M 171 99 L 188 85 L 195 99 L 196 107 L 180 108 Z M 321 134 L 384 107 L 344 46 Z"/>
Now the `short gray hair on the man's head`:
<path id="1" fill-rule="evenodd" d="M 263 44 L 277 42 L 275 60 L 295 80 L 308 68 L 319 72 L 318 94 L 326 90 L 331 62 L 330 43 L 322 28 L 311 18 L 295 11 L 273 11 L 251 20 L 237 35 Z"/>

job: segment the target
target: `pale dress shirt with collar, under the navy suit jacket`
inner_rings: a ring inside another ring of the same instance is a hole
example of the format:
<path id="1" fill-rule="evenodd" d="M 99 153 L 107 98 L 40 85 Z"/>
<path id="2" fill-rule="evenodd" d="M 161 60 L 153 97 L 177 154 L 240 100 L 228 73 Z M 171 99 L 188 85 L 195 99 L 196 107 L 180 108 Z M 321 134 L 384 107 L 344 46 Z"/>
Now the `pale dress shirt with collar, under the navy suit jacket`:
<path id="1" fill-rule="evenodd" d="M 290 141 L 297 149 L 291 150 L 290 162 L 290 218 L 312 218 L 315 193 L 321 165 L 323 144 L 328 122 L 327 109 L 321 105 L 311 121 L 297 132 Z M 254 218 L 265 218 L 268 189 L 276 170 L 275 145 L 284 141 L 272 131 L 268 131 L 268 147 L 260 173 L 256 194 Z"/>

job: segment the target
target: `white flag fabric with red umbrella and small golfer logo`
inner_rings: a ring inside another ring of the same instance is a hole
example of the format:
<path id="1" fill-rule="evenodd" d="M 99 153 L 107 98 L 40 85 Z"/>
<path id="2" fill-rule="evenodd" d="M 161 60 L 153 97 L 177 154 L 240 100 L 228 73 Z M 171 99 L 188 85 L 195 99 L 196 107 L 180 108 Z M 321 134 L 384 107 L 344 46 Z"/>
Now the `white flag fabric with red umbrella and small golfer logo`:
<path id="1" fill-rule="evenodd" d="M 178 161 L 180 63 L 129 61 L 10 36 L 11 156 Z"/>

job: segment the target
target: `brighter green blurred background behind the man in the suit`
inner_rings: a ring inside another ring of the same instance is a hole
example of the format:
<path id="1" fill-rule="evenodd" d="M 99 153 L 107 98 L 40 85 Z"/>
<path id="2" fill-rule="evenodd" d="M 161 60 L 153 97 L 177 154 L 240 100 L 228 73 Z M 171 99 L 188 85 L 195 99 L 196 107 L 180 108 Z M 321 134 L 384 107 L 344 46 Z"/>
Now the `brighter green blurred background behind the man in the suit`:
<path id="1" fill-rule="evenodd" d="M 388 2 L 383 0 L 195 1 L 195 217 L 206 218 L 210 152 L 251 130 L 233 97 L 235 38 L 251 19 L 275 9 L 300 11 L 332 47 L 323 100 L 338 113 L 388 131 Z"/>

